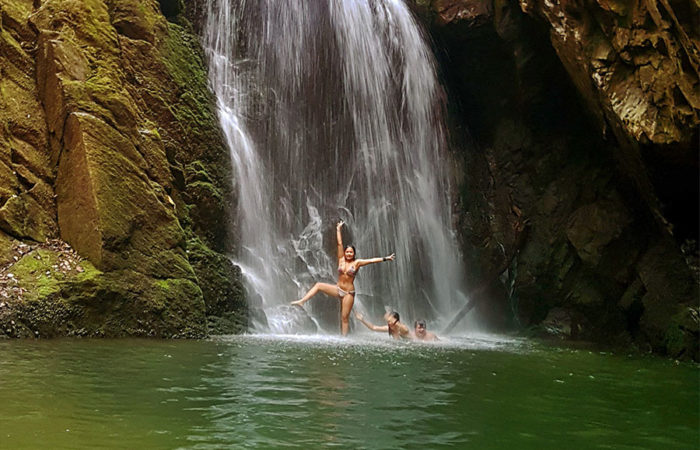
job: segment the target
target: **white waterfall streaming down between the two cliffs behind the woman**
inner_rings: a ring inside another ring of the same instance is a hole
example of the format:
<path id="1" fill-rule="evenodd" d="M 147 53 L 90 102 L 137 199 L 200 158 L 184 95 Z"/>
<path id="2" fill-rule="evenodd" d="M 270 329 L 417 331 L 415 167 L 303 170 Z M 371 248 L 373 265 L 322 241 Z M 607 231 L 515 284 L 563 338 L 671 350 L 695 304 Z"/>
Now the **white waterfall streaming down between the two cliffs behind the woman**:
<path id="1" fill-rule="evenodd" d="M 335 223 L 359 258 L 356 308 L 439 329 L 464 302 L 444 96 L 401 0 L 208 0 L 204 46 L 239 190 L 236 263 L 275 306 L 334 283 Z M 318 294 L 319 297 L 325 297 Z M 313 299 L 318 308 L 328 298 Z M 336 302 L 338 303 L 338 302 Z M 314 309 L 315 310 L 315 309 Z"/>

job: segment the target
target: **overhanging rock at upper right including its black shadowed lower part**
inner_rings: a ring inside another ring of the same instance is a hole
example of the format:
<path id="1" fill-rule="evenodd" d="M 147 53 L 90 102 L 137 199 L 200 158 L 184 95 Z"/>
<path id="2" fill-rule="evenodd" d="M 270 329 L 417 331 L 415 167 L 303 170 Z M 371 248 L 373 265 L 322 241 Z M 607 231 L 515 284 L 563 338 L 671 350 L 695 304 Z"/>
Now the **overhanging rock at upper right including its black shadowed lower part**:
<path id="1" fill-rule="evenodd" d="M 700 9 L 694 2 L 521 0 L 550 40 L 616 158 L 676 235 L 697 237 Z M 685 197 L 685 201 L 682 199 Z"/>

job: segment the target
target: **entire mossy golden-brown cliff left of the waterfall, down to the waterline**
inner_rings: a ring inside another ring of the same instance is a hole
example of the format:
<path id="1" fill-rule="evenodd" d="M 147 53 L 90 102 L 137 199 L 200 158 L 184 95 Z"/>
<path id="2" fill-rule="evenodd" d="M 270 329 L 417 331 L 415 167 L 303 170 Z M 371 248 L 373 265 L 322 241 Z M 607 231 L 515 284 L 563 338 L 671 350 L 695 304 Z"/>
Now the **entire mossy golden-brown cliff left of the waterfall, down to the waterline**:
<path id="1" fill-rule="evenodd" d="M 228 152 L 181 9 L 0 1 L 0 336 L 244 322 Z"/>

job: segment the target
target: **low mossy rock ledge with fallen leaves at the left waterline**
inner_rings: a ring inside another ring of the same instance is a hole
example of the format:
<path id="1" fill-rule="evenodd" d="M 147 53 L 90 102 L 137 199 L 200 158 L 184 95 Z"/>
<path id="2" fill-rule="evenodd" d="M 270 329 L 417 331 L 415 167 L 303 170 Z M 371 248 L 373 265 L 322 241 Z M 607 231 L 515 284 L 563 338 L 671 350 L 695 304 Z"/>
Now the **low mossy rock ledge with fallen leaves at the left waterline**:
<path id="1" fill-rule="evenodd" d="M 203 337 L 202 291 L 188 279 L 154 279 L 133 270 L 103 273 L 90 262 L 38 249 L 9 268 L 16 289 L 0 310 L 14 337 Z M 9 331 L 8 331 L 9 330 Z"/>

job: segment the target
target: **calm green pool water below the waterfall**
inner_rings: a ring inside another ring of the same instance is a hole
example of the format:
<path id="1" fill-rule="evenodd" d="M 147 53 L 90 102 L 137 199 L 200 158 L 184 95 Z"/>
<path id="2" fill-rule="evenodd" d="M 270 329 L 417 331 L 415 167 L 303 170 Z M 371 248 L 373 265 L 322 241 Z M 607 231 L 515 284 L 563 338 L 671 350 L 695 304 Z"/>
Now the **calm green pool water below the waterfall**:
<path id="1" fill-rule="evenodd" d="M 493 336 L 0 342 L 0 448 L 700 446 L 700 370 Z"/>

